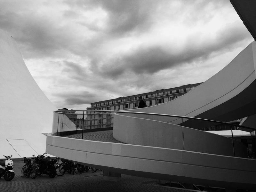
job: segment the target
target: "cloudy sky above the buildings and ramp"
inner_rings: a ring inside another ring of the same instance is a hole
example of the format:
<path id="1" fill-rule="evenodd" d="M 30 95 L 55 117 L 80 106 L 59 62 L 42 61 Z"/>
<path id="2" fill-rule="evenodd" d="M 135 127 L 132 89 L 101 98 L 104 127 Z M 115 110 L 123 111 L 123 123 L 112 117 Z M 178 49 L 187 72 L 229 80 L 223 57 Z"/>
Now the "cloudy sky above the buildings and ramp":
<path id="1" fill-rule="evenodd" d="M 0 0 L 0 28 L 73 109 L 204 82 L 253 41 L 228 0 Z"/>

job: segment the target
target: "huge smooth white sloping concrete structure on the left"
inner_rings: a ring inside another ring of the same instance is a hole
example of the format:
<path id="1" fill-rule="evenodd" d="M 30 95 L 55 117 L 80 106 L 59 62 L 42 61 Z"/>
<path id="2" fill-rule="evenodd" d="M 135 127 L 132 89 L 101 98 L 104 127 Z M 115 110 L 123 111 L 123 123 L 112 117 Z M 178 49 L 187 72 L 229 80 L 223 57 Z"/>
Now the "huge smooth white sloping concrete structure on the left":
<path id="1" fill-rule="evenodd" d="M 45 152 L 57 110 L 38 87 L 14 39 L 0 29 L 0 146 L 13 158 Z M 1 158 L 1 157 L 0 157 Z"/>

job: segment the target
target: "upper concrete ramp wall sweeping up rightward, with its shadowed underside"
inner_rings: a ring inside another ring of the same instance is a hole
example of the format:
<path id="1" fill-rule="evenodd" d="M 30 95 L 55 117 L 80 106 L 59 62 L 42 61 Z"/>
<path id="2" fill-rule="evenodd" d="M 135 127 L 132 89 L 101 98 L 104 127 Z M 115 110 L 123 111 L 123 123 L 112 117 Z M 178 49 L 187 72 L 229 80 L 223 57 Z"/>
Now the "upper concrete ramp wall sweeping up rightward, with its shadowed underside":
<path id="1" fill-rule="evenodd" d="M 160 105 L 131 111 L 190 116 L 228 122 L 256 113 L 256 43 L 253 41 L 225 68 L 185 95 Z M 148 118 L 141 115 L 130 115 Z M 155 120 L 180 124 L 181 119 L 150 116 Z M 198 129 L 205 122 L 190 121 Z M 120 126 L 119 124 L 117 125 Z M 136 125 L 135 125 L 136 126 Z"/>

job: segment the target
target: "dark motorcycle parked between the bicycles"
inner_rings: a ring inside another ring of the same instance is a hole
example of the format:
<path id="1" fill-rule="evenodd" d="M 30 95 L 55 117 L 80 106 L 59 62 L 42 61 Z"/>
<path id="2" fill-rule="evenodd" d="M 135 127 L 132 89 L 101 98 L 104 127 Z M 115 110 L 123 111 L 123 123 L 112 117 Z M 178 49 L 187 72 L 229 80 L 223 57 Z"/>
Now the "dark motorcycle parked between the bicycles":
<path id="1" fill-rule="evenodd" d="M 56 176 L 56 169 L 54 164 L 57 162 L 57 159 L 52 159 L 48 156 L 48 158 L 44 158 L 46 153 L 43 155 L 38 155 L 35 157 L 35 161 L 38 164 L 39 170 L 38 175 L 46 174 L 49 177 L 54 178 Z"/>

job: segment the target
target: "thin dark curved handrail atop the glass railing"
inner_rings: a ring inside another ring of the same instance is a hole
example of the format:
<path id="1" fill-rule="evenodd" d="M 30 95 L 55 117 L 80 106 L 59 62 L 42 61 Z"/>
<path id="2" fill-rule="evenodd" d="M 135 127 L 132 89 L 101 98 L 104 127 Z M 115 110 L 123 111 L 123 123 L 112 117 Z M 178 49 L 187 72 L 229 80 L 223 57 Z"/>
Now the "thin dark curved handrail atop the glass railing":
<path id="1" fill-rule="evenodd" d="M 56 110 L 53 111 L 53 113 L 60 113 L 60 112 L 69 112 L 69 111 L 95 111 L 95 112 L 111 112 L 111 113 L 129 113 L 129 114 L 140 114 L 140 115 L 155 115 L 155 116 L 167 116 L 167 117 L 177 117 L 177 118 L 185 118 L 185 119 L 193 119 L 193 120 L 200 120 L 200 121 L 207 121 L 207 122 L 212 122 L 212 123 L 217 123 L 217 124 L 226 124 L 226 125 L 233 125 L 236 127 L 242 127 L 246 129 L 250 129 L 252 131 L 255 131 L 256 128 L 252 127 L 247 127 L 243 125 L 237 125 L 237 124 L 232 124 L 232 123 L 226 123 L 226 122 L 221 122 L 221 121 L 215 121 L 215 120 L 210 120 L 210 119 L 202 119 L 202 118 L 197 118 L 197 117 L 188 117 L 188 116 L 178 116 L 178 115 L 168 115 L 168 114 L 160 114 L 160 113 L 146 113 L 146 112 L 136 112 L 136 111 L 114 111 L 114 110 L 97 110 L 97 109 L 91 109 L 91 110 Z M 65 114 L 65 113 L 61 113 Z M 68 113 L 69 115 L 72 115 Z M 98 115 L 99 113 L 96 113 L 95 115 Z M 76 115 L 82 115 L 82 114 L 76 114 Z M 92 113 L 86 114 L 86 115 L 94 115 Z"/>

